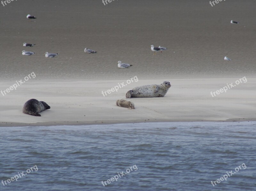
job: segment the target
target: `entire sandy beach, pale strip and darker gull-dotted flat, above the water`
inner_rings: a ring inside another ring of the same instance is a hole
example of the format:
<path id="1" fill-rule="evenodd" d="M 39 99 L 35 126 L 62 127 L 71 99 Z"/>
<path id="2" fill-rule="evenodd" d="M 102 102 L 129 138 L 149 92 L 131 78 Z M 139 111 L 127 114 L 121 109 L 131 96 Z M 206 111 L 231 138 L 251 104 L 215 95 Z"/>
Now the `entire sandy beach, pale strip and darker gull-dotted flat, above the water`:
<path id="1" fill-rule="evenodd" d="M 199 0 L 28 0 L 2 6 L 0 89 L 32 72 L 36 77 L 0 94 L 0 125 L 255 121 L 254 7 L 252 0 L 213 7 Z M 168 50 L 153 55 L 150 45 Z M 84 48 L 98 53 L 85 54 Z M 23 56 L 22 50 L 36 53 Z M 59 55 L 45 58 L 46 51 Z M 119 60 L 133 66 L 119 69 Z M 102 95 L 134 76 L 138 82 Z M 242 77 L 248 81 L 211 96 Z M 172 85 L 163 98 L 132 98 L 135 110 L 116 106 L 128 90 L 163 81 Z M 51 109 L 41 117 L 23 114 L 32 98 Z"/>

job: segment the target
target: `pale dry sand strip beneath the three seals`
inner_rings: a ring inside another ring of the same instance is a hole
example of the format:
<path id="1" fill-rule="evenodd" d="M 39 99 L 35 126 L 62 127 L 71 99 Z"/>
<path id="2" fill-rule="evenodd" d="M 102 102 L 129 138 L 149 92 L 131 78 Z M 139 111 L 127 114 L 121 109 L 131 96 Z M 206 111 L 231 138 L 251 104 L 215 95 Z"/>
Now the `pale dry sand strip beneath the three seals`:
<path id="1" fill-rule="evenodd" d="M 168 79 L 167 79 L 168 80 Z M 133 82 L 118 92 L 103 96 L 106 91 L 125 81 L 30 80 L 3 96 L 0 94 L 0 126 L 86 125 L 159 121 L 255 121 L 256 78 L 236 85 L 227 92 L 212 97 L 210 92 L 236 78 L 172 79 L 172 87 L 162 98 L 131 98 L 135 110 L 116 106 L 116 100 L 138 85 L 153 80 Z M 163 79 L 154 80 L 159 84 Z M 6 88 L 1 82 L 0 88 Z M 21 112 L 28 99 L 45 101 L 51 109 L 41 117 Z"/>

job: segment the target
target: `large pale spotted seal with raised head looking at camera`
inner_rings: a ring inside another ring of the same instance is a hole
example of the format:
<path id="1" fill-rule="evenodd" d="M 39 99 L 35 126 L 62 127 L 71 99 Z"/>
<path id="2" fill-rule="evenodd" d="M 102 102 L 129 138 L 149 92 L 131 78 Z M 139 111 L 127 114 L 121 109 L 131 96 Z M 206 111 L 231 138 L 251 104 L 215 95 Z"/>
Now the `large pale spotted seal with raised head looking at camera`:
<path id="1" fill-rule="evenodd" d="M 164 97 L 169 88 L 171 87 L 170 82 L 164 81 L 162 84 L 157 85 L 142 85 L 129 90 L 126 93 L 126 98 L 154 98 Z"/>

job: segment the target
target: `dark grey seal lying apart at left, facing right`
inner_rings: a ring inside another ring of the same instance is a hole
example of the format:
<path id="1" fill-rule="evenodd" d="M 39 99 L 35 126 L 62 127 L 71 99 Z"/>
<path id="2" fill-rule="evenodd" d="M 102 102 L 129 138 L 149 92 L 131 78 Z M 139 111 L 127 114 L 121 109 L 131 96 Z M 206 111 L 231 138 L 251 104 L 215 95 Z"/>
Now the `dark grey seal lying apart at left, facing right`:
<path id="1" fill-rule="evenodd" d="M 22 112 L 28 115 L 41 116 L 39 113 L 46 109 L 50 109 L 47 103 L 44 101 L 38 101 L 37 99 L 29 99 L 23 106 Z"/>

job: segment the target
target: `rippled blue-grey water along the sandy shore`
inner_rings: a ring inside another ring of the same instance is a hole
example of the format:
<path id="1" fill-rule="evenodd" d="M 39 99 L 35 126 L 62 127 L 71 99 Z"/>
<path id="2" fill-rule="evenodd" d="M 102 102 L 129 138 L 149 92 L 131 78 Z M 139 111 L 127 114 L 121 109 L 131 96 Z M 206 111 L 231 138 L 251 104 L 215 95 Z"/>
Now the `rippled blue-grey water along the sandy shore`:
<path id="1" fill-rule="evenodd" d="M 0 129 L 0 190 L 256 190 L 256 122 Z"/>

